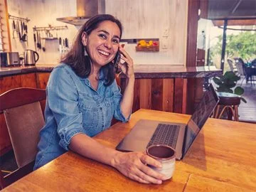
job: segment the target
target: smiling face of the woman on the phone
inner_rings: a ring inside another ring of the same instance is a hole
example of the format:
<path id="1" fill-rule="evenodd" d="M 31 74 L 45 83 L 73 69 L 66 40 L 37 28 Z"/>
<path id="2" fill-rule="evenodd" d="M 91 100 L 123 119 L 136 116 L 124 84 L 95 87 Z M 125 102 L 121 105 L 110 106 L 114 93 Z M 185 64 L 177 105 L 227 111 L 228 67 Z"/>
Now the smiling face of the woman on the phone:
<path id="1" fill-rule="evenodd" d="M 89 36 L 82 33 L 82 44 L 87 47 L 87 53 L 95 67 L 102 67 L 114 59 L 119 40 L 119 27 L 112 21 L 103 21 Z"/>

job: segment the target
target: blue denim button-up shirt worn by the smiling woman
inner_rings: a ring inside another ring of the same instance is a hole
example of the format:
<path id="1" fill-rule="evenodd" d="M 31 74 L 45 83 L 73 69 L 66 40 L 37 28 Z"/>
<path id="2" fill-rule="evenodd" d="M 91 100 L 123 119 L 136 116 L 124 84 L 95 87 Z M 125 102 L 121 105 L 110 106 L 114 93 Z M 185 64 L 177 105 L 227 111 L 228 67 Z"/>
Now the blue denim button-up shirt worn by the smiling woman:
<path id="1" fill-rule="evenodd" d="M 122 114 L 116 80 L 110 86 L 100 80 L 94 90 L 87 78 L 80 78 L 63 63 L 50 73 L 46 93 L 46 124 L 40 132 L 34 169 L 68 151 L 75 134 L 92 137 L 110 127 L 113 116 L 122 122 L 129 119 Z"/>

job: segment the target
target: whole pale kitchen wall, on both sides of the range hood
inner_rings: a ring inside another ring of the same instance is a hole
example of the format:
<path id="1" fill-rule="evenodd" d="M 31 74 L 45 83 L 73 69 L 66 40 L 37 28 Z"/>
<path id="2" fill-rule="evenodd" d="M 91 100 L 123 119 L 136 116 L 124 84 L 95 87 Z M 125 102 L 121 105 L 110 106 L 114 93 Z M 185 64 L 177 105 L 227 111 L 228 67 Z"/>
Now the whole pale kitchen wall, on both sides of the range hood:
<path id="1" fill-rule="evenodd" d="M 123 23 L 122 38 L 159 38 L 160 51 L 157 53 L 136 52 L 136 44 L 125 46 L 136 65 L 184 65 L 186 61 L 187 1 L 105 0 L 106 13 L 117 16 Z M 33 26 L 67 25 L 68 30 L 57 31 L 57 33 L 58 37 L 68 38 L 70 44 L 78 31 L 78 27 L 55 19 L 76 16 L 75 0 L 9 0 L 8 8 L 9 14 L 31 19 L 28 22 L 28 45 L 11 36 L 12 50 L 17 50 L 20 54 L 28 48 L 35 50 Z M 54 33 L 53 35 L 56 36 Z M 42 36 L 45 34 L 41 33 Z M 46 52 L 38 50 L 40 55 L 38 63 L 58 63 L 60 58 L 58 40 L 43 41 L 42 44 L 46 47 Z"/>

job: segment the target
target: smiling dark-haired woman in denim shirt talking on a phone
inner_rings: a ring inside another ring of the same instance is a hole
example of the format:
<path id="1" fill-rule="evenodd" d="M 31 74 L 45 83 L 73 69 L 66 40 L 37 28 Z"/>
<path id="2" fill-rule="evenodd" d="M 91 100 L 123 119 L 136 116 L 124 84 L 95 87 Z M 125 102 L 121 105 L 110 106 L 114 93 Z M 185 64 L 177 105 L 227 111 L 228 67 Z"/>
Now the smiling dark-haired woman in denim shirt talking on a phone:
<path id="1" fill-rule="evenodd" d="M 107 148 L 91 137 L 110 127 L 112 117 L 127 122 L 134 95 L 133 61 L 119 46 L 122 24 L 103 14 L 90 18 L 78 33 L 73 48 L 50 74 L 46 88 L 46 125 L 41 129 L 34 169 L 72 150 L 113 166 L 141 183 L 161 183 L 164 175 L 146 166 L 161 164 L 140 152 L 123 153 Z M 114 80 L 117 51 L 127 75 L 124 95 Z"/>

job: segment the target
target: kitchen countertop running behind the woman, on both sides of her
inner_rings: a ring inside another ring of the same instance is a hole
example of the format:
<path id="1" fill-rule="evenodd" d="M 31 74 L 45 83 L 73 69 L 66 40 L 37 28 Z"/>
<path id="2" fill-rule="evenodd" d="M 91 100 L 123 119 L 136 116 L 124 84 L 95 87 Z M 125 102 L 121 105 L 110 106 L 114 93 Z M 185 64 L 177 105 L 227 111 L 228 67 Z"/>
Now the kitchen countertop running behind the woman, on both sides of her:
<path id="1" fill-rule="evenodd" d="M 38 64 L 0 68 L 0 77 L 24 73 L 50 73 L 57 65 Z M 135 78 L 205 78 L 222 75 L 222 70 L 215 66 L 184 67 L 183 65 L 134 65 Z M 125 78 L 124 74 L 119 76 Z"/>

